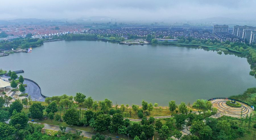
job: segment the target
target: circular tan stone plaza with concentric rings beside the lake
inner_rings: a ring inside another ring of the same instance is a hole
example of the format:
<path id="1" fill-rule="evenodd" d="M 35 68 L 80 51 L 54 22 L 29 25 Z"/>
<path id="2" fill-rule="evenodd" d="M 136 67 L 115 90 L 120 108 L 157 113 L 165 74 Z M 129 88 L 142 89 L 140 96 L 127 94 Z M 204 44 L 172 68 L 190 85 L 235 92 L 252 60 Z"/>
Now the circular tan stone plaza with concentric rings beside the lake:
<path id="1" fill-rule="evenodd" d="M 211 101 L 212 106 L 218 109 L 218 115 L 221 115 L 221 116 L 225 115 L 225 116 L 240 118 L 241 113 L 243 117 L 246 117 L 247 114 L 250 115 L 250 113 L 253 112 L 253 109 L 246 104 L 239 102 L 241 104 L 241 107 L 232 107 L 226 104 L 227 101 L 230 101 L 230 100 L 215 99 Z"/>

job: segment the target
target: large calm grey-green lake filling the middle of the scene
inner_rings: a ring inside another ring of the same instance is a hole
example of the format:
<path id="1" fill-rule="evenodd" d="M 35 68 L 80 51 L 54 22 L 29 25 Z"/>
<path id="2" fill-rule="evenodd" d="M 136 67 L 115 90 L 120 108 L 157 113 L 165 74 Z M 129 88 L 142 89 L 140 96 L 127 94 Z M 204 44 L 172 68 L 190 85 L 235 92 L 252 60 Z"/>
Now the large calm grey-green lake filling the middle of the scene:
<path id="1" fill-rule="evenodd" d="M 228 97 L 256 87 L 245 58 L 166 45 L 119 45 L 101 41 L 47 42 L 32 53 L 0 57 L 0 68 L 24 70 L 42 94 L 76 95 L 113 104 Z"/>

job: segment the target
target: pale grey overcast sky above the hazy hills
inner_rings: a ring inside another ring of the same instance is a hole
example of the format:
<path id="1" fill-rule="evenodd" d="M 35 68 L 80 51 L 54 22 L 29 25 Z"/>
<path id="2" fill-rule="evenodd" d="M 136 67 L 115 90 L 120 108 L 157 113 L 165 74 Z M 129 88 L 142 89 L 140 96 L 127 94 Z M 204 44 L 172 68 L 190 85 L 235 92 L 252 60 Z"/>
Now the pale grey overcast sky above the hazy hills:
<path id="1" fill-rule="evenodd" d="M 1 0 L 0 20 L 76 19 L 108 16 L 126 20 L 255 20 L 256 0 Z"/>

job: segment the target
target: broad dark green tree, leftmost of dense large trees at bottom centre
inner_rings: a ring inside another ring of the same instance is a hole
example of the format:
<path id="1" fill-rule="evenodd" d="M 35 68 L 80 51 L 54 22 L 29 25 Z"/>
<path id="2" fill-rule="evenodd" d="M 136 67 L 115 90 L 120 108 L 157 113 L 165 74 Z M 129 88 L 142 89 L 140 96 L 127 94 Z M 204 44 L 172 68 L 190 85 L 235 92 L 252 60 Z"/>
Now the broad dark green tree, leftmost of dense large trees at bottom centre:
<path id="1" fill-rule="evenodd" d="M 111 117 L 109 115 L 98 115 L 95 120 L 95 130 L 102 132 L 108 129 L 108 126 L 110 126 L 111 123 Z"/>

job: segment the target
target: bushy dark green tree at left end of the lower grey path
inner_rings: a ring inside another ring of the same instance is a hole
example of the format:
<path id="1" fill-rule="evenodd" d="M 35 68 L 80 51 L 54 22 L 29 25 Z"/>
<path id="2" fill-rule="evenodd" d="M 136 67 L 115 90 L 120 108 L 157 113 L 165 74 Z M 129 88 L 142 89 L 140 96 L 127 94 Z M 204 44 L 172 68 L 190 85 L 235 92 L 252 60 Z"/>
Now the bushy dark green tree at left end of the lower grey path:
<path id="1" fill-rule="evenodd" d="M 17 124 L 20 124 L 20 128 L 24 129 L 28 124 L 29 118 L 26 115 L 25 112 L 17 113 L 12 116 L 10 120 L 10 124 L 12 126 L 16 126 Z"/>

